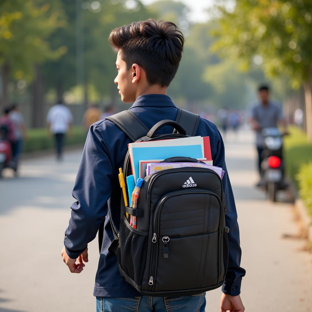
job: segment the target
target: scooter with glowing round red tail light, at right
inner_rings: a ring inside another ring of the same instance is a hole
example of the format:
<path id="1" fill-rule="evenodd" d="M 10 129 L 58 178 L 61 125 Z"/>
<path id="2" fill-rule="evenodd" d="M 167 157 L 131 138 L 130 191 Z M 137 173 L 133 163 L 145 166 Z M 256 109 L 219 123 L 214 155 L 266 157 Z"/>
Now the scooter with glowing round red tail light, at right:
<path id="1" fill-rule="evenodd" d="M 268 198 L 276 202 L 278 190 L 287 187 L 284 182 L 283 136 L 277 128 L 262 130 L 264 150 L 261 154 L 261 177 L 266 186 Z"/>

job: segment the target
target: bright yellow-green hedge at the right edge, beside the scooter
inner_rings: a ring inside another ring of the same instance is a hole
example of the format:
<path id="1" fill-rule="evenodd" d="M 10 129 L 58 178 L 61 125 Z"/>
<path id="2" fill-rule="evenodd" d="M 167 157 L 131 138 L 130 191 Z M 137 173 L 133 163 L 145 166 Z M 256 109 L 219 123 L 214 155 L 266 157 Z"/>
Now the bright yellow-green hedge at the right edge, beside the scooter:
<path id="1" fill-rule="evenodd" d="M 290 127 L 284 140 L 286 170 L 312 216 L 312 143 L 299 128 Z"/>

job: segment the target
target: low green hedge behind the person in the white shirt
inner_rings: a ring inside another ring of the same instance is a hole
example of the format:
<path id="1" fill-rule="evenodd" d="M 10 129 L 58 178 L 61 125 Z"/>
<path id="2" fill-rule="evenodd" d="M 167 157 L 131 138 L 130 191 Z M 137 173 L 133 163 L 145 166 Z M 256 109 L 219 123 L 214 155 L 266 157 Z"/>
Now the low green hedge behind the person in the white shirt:
<path id="1" fill-rule="evenodd" d="M 55 146 L 53 136 L 48 137 L 45 128 L 30 129 L 27 131 L 28 139 L 24 141 L 23 152 L 35 152 L 52 149 Z M 66 134 L 65 145 L 83 145 L 86 133 L 82 127 L 73 127 L 73 135 Z"/>

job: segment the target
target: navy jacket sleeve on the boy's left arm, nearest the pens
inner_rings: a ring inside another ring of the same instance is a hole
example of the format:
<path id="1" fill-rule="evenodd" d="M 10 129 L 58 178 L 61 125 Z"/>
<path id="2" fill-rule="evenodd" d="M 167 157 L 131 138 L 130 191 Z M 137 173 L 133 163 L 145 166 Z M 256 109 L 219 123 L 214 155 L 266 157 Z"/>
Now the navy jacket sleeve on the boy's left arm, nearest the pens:
<path id="1" fill-rule="evenodd" d="M 71 218 L 65 231 L 67 255 L 76 259 L 92 241 L 107 214 L 112 192 L 113 169 L 108 156 L 105 134 L 93 124 L 83 149 L 72 195 Z"/>

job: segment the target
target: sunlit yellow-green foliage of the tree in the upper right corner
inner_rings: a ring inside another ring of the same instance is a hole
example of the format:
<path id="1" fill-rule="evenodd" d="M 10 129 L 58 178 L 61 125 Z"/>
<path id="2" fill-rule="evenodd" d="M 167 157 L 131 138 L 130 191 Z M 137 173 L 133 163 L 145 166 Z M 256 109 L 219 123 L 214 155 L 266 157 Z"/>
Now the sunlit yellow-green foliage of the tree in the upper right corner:
<path id="1" fill-rule="evenodd" d="M 250 63 L 259 55 L 267 74 L 286 74 L 298 89 L 312 65 L 311 12 L 312 2 L 303 0 L 238 0 L 233 12 L 219 6 L 221 29 L 214 47 Z"/>

